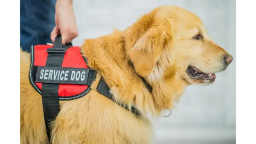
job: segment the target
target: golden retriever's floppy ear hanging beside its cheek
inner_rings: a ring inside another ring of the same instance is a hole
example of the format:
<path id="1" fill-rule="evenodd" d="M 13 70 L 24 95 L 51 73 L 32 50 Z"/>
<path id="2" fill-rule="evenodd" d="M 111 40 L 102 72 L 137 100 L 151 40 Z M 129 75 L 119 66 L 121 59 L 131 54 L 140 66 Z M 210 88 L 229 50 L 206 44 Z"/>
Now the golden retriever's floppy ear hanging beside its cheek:
<path id="1" fill-rule="evenodd" d="M 165 43 L 166 33 L 163 29 L 150 28 L 137 40 L 134 47 L 128 50 L 128 55 L 140 76 L 145 77 L 152 72 Z"/>

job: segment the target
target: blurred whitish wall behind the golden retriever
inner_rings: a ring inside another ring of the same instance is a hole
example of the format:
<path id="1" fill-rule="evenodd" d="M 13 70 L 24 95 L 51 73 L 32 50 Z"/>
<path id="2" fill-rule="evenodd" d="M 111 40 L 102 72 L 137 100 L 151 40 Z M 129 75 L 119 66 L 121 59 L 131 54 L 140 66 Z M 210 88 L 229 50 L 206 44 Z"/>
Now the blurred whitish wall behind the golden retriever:
<path id="1" fill-rule="evenodd" d="M 79 46 L 84 39 L 107 35 L 115 28 L 123 30 L 141 15 L 162 5 L 180 6 L 197 14 L 212 39 L 230 52 L 234 61 L 225 72 L 216 74 L 214 84 L 187 87 L 170 117 L 153 120 L 155 143 L 173 140 L 191 144 L 192 140 L 203 140 L 233 144 L 236 136 L 235 0 L 74 0 L 79 37 L 73 44 Z"/>

